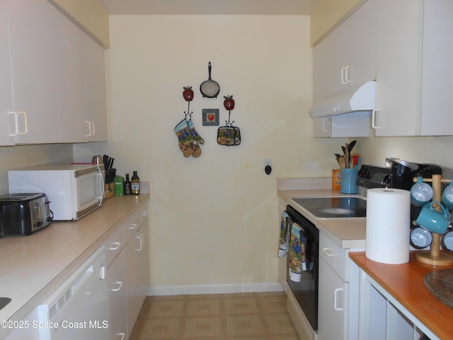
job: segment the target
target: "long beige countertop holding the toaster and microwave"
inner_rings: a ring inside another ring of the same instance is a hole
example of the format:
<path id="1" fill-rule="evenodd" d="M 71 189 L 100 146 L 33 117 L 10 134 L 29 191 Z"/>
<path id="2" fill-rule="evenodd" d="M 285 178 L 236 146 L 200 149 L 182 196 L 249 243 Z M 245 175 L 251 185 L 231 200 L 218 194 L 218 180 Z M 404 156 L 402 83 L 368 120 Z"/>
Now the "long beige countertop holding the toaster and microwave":
<path id="1" fill-rule="evenodd" d="M 0 239 L 0 321 L 22 320 L 52 293 L 149 194 L 115 196 L 77 221 L 52 222 L 25 237 Z M 0 338 L 6 334 L 0 328 Z"/>

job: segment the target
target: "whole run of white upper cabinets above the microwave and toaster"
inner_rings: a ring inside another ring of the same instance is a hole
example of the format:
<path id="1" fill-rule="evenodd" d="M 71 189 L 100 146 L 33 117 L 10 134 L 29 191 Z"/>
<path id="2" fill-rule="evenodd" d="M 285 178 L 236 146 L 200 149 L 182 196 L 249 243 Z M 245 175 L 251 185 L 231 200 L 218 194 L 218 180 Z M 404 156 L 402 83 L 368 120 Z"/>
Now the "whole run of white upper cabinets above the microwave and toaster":
<path id="1" fill-rule="evenodd" d="M 0 89 L 12 89 L 0 96 L 12 101 L 5 111 L 16 119 L 7 133 L 13 141 L 2 138 L 1 145 L 88 142 L 95 132 L 106 140 L 102 47 L 48 1 L 4 0 L 0 6 L 7 7 L 0 16 L 8 13 L 0 23 L 0 74 L 8 67 L 11 74 L 0 79 Z M 4 50 L 11 53 L 8 67 Z"/>

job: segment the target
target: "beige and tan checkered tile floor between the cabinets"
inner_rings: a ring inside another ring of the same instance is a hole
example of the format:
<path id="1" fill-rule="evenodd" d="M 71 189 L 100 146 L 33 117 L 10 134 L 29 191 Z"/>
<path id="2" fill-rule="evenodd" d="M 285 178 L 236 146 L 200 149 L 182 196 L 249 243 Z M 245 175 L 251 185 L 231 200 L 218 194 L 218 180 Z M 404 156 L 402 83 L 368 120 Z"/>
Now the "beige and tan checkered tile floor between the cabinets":
<path id="1" fill-rule="evenodd" d="M 131 340 L 299 340 L 283 292 L 148 296 Z"/>

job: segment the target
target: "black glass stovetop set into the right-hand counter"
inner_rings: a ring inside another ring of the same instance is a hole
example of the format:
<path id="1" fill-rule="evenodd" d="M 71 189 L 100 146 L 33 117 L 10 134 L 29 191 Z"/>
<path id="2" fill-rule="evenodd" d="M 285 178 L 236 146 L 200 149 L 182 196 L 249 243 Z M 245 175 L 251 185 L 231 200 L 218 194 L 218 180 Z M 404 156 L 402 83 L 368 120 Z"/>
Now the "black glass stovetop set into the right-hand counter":
<path id="1" fill-rule="evenodd" d="M 360 197 L 292 198 L 295 203 L 321 218 L 365 217 L 367 200 Z"/>

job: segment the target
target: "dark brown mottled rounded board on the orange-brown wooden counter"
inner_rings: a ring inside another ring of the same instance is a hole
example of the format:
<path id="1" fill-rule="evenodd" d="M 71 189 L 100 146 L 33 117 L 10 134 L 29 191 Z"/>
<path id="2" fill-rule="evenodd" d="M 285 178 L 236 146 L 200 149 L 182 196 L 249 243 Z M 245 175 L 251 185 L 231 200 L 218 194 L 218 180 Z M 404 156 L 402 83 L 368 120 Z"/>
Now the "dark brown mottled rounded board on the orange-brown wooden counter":
<path id="1" fill-rule="evenodd" d="M 432 295 L 453 309 L 453 269 L 440 269 L 425 275 L 425 285 Z"/>

